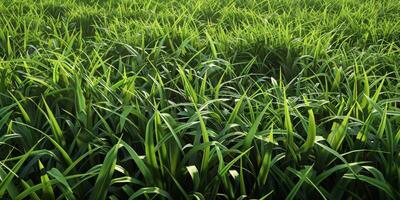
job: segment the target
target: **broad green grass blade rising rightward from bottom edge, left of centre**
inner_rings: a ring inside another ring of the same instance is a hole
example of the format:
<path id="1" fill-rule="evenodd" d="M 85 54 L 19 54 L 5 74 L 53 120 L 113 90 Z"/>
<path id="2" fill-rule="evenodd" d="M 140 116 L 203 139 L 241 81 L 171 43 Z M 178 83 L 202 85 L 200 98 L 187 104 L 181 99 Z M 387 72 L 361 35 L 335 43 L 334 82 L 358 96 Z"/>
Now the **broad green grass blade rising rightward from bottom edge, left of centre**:
<path id="1" fill-rule="evenodd" d="M 120 147 L 118 141 L 104 158 L 100 172 L 97 175 L 96 183 L 89 197 L 90 200 L 104 200 L 111 183 L 112 175 L 114 174 L 115 166 L 117 163 L 117 153 Z"/>

